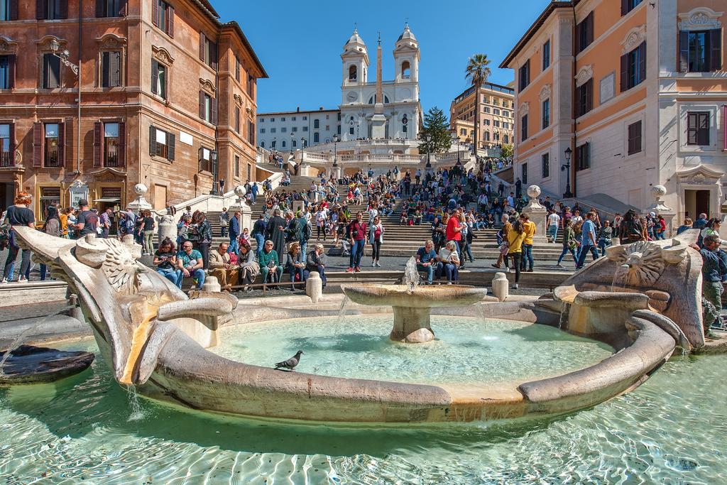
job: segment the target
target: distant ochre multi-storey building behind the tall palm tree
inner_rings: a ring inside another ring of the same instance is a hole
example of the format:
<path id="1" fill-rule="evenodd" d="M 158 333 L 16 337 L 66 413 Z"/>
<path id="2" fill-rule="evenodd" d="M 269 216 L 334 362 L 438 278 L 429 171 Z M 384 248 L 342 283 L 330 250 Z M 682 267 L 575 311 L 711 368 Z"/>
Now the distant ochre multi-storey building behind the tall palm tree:
<path id="1" fill-rule="evenodd" d="M 478 148 L 513 143 L 515 90 L 509 86 L 486 83 L 480 88 L 480 97 Z M 465 89 L 449 106 L 450 129 L 457 133 L 462 143 L 471 144 L 475 141 L 475 109 L 475 87 Z"/>

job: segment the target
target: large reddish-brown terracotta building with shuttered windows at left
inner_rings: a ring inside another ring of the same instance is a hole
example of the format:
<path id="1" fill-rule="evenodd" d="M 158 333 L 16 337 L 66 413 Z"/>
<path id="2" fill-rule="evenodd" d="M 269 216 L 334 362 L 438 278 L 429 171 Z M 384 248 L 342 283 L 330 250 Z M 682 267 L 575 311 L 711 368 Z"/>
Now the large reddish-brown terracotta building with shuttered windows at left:
<path id="1" fill-rule="evenodd" d="M 254 180 L 264 77 L 206 0 L 0 2 L 0 207 L 21 188 L 39 219 L 125 207 L 143 183 L 163 208 Z"/>

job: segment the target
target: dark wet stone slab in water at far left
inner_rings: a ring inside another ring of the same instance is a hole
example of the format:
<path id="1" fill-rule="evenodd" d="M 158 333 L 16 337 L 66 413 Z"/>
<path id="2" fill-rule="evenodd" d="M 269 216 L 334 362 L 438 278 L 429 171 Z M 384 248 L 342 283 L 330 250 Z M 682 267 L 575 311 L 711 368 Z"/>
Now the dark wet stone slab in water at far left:
<path id="1" fill-rule="evenodd" d="M 0 352 L 0 360 L 5 356 Z M 65 352 L 55 348 L 20 345 L 0 369 L 0 385 L 53 382 L 88 369 L 91 352 Z"/>

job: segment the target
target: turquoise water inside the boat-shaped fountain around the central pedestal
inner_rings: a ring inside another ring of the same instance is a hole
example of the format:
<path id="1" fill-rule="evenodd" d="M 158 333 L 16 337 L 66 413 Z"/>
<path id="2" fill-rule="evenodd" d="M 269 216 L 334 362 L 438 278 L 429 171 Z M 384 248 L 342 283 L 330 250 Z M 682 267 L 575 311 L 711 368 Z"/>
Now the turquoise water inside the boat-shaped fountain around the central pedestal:
<path id="1" fill-rule="evenodd" d="M 295 318 L 222 330 L 214 353 L 273 366 L 304 355 L 296 370 L 335 377 L 400 382 L 505 382 L 582 369 L 613 353 L 595 340 L 546 325 L 481 318 L 432 317 L 436 340 L 389 340 L 392 316 Z"/>

